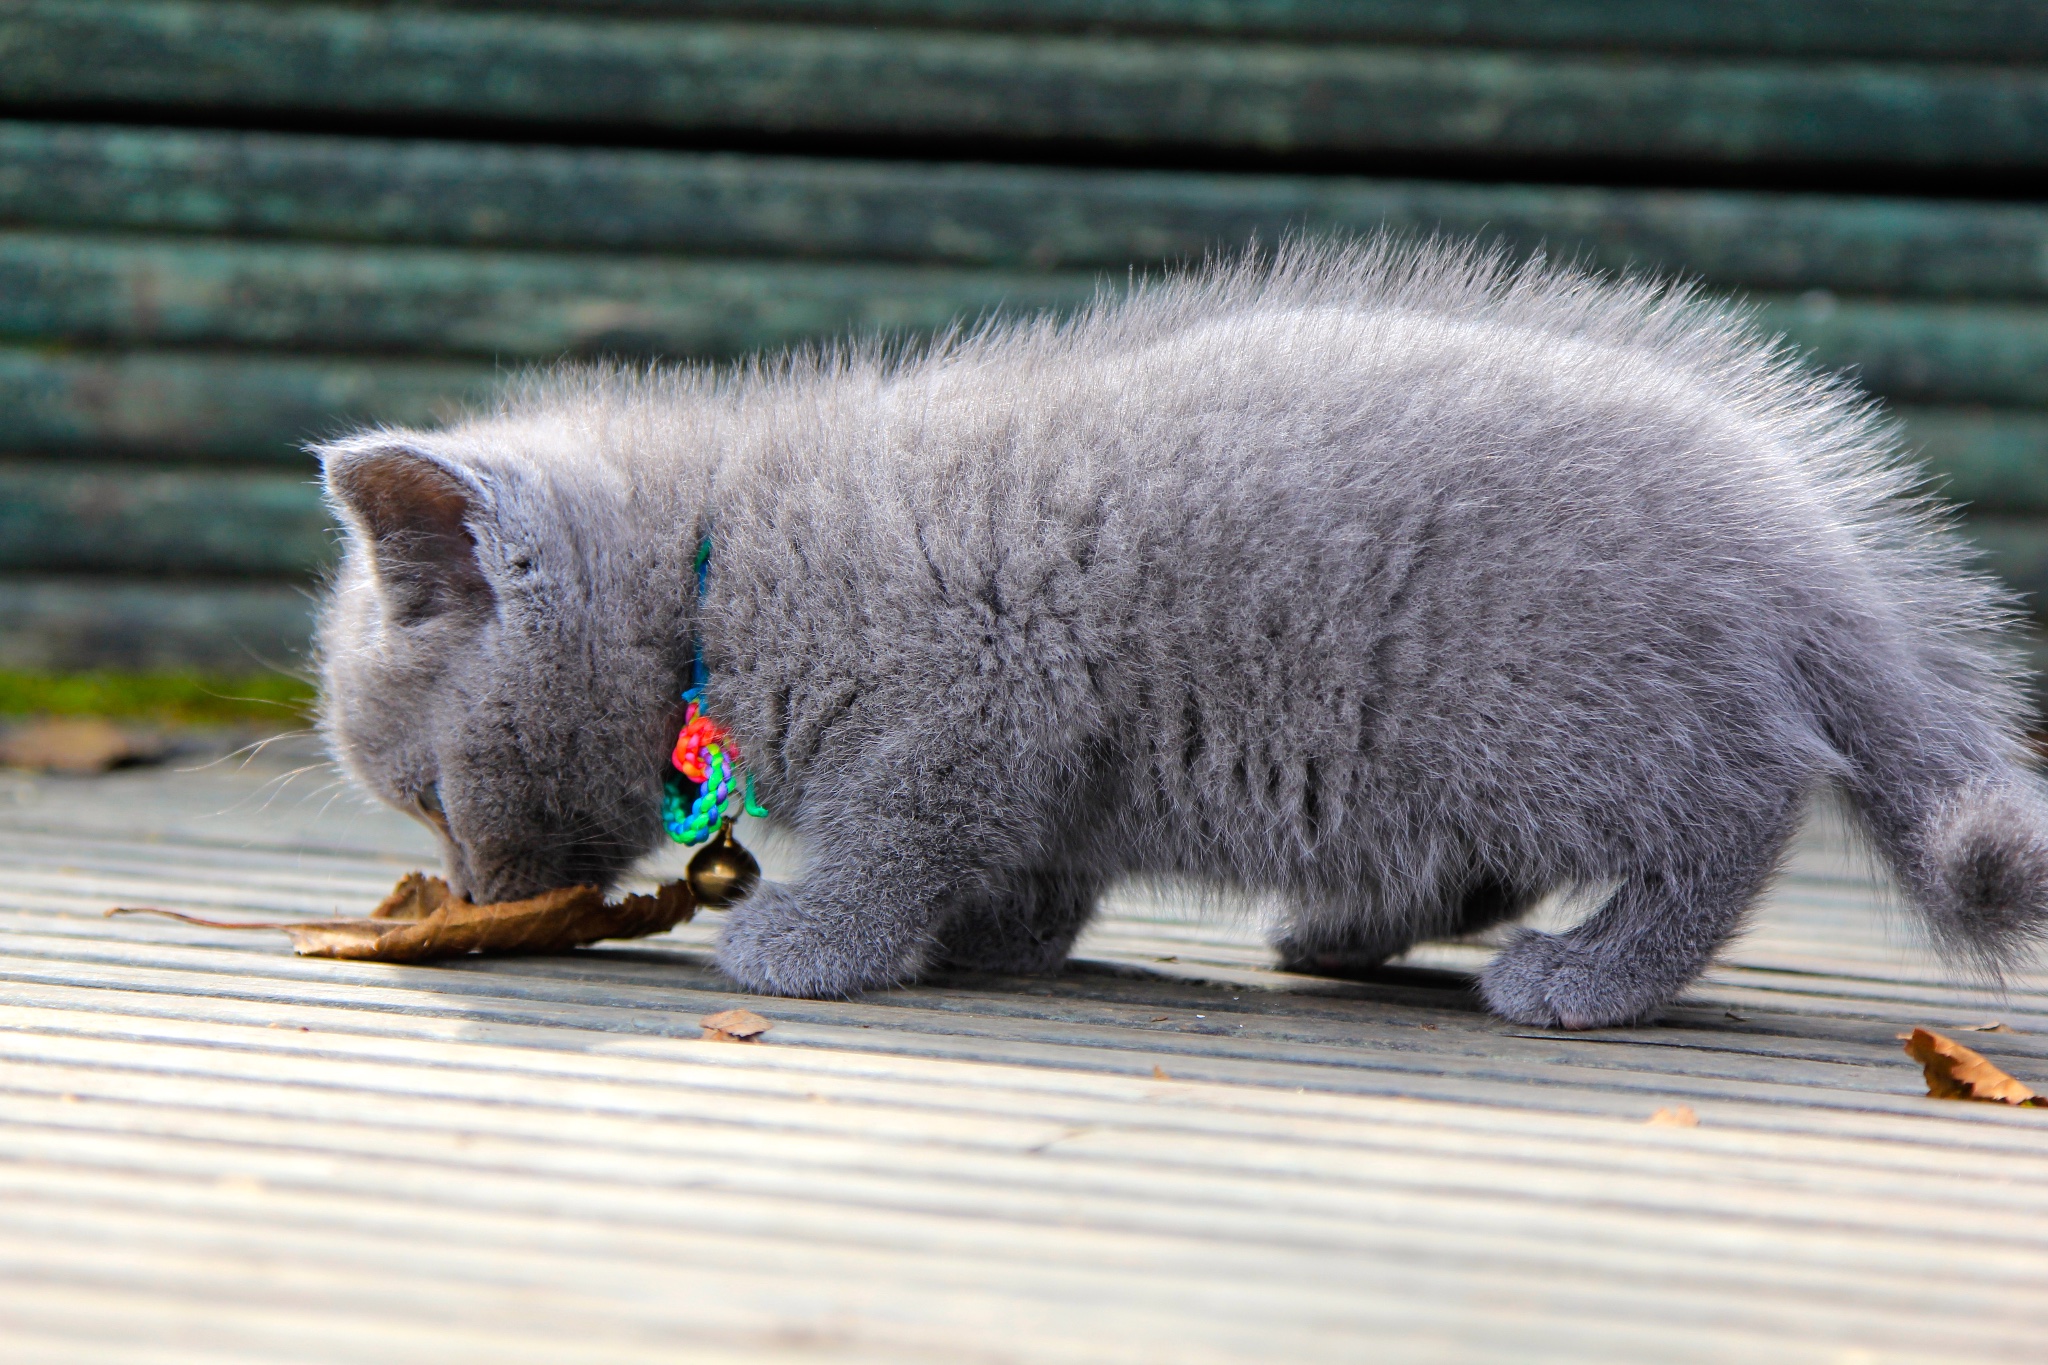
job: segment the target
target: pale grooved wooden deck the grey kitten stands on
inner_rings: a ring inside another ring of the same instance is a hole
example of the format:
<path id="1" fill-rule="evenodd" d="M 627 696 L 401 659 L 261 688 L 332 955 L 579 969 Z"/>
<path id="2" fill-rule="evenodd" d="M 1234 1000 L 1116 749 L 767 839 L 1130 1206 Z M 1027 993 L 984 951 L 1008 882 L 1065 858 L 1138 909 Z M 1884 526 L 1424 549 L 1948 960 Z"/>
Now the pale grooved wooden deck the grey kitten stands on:
<path id="1" fill-rule="evenodd" d="M 2048 976 L 1950 984 L 1823 837 L 1575 1036 L 1481 1013 L 1485 948 L 1311 980 L 1171 898 L 856 1003 L 737 997 L 715 917 L 440 968 L 100 919 L 422 864 L 287 767 L 0 776 L 8 1361 L 2048 1359 L 2048 1111 L 1894 1038 L 1997 1019 L 2048 1089 Z M 698 1040 L 735 1003 L 766 1046 Z"/>

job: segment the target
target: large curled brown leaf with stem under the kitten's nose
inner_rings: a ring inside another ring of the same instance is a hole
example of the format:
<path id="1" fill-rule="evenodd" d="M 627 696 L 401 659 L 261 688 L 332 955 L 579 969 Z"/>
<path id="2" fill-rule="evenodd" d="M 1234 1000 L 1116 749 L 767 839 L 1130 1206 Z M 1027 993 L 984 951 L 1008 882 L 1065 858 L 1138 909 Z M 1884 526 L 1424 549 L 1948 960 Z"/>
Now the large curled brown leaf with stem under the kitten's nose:
<path id="1" fill-rule="evenodd" d="M 696 913 L 684 882 L 651 896 L 604 900 L 596 886 L 563 886 L 530 900 L 471 905 L 438 876 L 408 872 L 369 919 L 223 923 L 176 911 L 119 907 L 109 915 L 168 915 L 207 929 L 281 929 L 301 958 L 432 962 L 461 954 L 555 954 L 598 939 L 637 939 L 674 929 Z"/>

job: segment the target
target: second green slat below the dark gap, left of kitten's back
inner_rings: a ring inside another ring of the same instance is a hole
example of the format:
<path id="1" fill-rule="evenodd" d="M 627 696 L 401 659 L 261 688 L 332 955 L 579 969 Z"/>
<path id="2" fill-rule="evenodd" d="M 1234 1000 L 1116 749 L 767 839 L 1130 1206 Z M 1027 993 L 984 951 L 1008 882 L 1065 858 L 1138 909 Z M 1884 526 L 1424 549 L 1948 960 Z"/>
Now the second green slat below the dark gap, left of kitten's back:
<path id="1" fill-rule="evenodd" d="M 702 354 L 1071 305 L 1090 274 L 0 233 L 0 336 Z"/>

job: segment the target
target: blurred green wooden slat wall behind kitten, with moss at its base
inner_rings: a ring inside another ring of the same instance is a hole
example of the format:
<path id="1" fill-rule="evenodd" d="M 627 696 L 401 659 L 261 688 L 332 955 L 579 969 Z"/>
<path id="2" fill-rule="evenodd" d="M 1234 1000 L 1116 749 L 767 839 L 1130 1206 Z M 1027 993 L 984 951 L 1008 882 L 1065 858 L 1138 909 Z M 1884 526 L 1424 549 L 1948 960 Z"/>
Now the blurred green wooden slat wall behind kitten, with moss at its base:
<path id="1" fill-rule="evenodd" d="M 1378 225 L 1755 301 L 2048 596 L 2032 0 L 10 0 L 0 712 L 303 698 L 352 422 Z"/>

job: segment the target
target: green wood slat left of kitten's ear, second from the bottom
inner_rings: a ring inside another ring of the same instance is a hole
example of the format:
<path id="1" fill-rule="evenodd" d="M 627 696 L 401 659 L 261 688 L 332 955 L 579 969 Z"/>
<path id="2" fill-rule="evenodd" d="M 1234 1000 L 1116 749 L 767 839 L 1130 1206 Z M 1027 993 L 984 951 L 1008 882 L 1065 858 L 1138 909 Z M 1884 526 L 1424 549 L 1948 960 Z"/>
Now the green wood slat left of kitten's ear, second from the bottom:
<path id="1" fill-rule="evenodd" d="M 334 557 L 305 473 L 0 463 L 0 569 L 307 575 Z"/>

